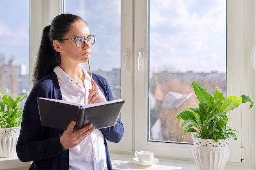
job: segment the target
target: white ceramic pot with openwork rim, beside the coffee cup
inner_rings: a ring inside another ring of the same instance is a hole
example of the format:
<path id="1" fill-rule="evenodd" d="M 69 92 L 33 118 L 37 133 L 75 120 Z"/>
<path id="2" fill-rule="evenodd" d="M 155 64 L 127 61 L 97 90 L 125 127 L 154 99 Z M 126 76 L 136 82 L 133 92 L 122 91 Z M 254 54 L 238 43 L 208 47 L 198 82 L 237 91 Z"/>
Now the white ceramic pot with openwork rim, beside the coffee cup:
<path id="1" fill-rule="evenodd" d="M 198 134 L 192 134 L 193 157 L 198 170 L 224 170 L 229 158 L 228 139 L 218 140 L 201 139 Z"/>

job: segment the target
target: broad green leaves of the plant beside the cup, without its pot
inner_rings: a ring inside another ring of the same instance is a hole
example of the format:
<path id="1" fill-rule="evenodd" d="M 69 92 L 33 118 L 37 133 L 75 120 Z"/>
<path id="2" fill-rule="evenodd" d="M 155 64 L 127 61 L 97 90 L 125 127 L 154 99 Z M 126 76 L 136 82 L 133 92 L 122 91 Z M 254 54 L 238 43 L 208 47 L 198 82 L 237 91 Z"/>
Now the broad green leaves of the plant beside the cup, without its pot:
<path id="1" fill-rule="evenodd" d="M 201 139 L 229 139 L 233 137 L 236 140 L 236 130 L 230 129 L 226 126 L 228 122 L 227 112 L 237 108 L 241 103 L 250 102 L 249 108 L 252 108 L 254 101 L 246 95 L 229 96 L 225 98 L 219 88 L 216 88 L 216 92 L 211 96 L 200 84 L 192 82 L 195 95 L 199 100 L 199 105 L 196 107 L 187 108 L 174 117 L 182 119 L 180 126 L 186 126 L 184 128 L 184 136 L 188 132 L 198 133 L 198 137 Z"/>

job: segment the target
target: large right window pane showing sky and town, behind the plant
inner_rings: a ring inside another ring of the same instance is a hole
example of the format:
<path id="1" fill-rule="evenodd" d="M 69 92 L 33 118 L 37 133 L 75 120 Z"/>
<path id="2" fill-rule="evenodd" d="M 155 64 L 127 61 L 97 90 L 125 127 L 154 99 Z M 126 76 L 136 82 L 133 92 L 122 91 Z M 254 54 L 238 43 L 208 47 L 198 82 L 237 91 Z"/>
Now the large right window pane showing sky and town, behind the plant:
<path id="1" fill-rule="evenodd" d="M 199 103 L 192 81 L 226 93 L 226 2 L 150 0 L 149 16 L 148 140 L 192 142 L 174 115 Z"/>

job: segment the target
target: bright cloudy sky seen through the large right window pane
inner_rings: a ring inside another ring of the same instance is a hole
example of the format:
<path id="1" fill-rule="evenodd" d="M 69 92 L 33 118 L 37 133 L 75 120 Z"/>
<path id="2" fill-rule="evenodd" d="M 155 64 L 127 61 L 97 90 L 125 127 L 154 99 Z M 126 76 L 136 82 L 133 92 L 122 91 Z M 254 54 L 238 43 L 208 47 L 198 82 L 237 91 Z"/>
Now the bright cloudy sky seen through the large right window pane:
<path id="1" fill-rule="evenodd" d="M 155 2 L 150 4 L 150 68 L 159 70 L 169 64 L 176 71 L 225 72 L 223 0 L 150 2 Z"/>

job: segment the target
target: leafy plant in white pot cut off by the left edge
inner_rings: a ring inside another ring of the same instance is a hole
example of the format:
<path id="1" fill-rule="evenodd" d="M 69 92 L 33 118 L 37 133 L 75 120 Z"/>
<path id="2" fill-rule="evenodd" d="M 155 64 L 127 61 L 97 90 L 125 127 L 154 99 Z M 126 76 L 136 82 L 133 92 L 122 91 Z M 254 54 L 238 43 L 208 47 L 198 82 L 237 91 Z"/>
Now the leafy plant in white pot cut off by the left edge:
<path id="1" fill-rule="evenodd" d="M 0 93 L 0 157 L 16 155 L 16 144 L 20 133 L 23 110 L 19 110 L 25 95 L 14 100 L 10 95 Z"/>

